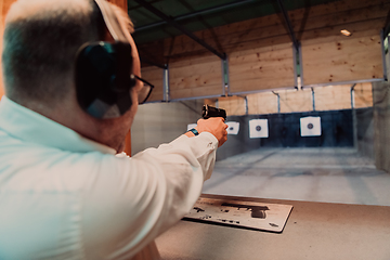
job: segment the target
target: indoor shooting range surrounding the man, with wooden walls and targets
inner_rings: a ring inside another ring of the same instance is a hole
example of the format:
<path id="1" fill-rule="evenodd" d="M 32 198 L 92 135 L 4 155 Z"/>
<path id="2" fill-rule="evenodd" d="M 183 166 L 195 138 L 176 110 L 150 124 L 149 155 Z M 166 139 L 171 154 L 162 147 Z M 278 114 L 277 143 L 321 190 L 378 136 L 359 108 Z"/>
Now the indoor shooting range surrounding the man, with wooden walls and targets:
<path id="1" fill-rule="evenodd" d="M 390 0 L 110 2 L 155 86 L 128 154 L 204 105 L 227 114 L 200 199 L 156 240 L 162 259 L 390 259 Z"/>

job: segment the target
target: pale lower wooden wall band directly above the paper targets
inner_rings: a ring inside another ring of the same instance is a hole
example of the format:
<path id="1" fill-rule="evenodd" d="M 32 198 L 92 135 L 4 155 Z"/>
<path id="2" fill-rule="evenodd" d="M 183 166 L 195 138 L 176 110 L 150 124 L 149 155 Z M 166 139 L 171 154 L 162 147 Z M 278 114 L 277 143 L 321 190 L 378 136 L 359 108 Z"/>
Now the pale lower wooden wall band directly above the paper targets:
<path id="1" fill-rule="evenodd" d="M 316 87 L 314 90 L 315 110 L 351 109 L 352 84 Z M 277 95 L 280 104 L 277 104 Z M 278 113 L 299 113 L 313 110 L 313 95 L 311 88 L 303 90 L 286 89 L 274 92 L 265 91 L 245 96 L 229 96 L 206 100 L 205 104 L 226 109 L 229 116 L 263 115 Z M 217 102 L 218 101 L 218 102 Z M 373 106 L 372 83 L 358 83 L 354 87 L 354 108 Z M 246 106 L 248 109 L 246 110 Z"/>

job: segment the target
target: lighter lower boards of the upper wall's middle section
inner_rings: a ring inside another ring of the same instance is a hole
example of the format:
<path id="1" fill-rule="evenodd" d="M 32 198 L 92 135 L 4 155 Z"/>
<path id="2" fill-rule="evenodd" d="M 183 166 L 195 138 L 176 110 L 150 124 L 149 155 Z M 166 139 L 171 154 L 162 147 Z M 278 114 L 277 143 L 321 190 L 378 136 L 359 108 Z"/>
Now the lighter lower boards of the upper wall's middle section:
<path id="1" fill-rule="evenodd" d="M 286 48 L 287 47 L 287 48 Z M 292 49 L 278 51 L 259 49 L 232 53 L 229 56 L 232 93 L 294 87 Z"/>

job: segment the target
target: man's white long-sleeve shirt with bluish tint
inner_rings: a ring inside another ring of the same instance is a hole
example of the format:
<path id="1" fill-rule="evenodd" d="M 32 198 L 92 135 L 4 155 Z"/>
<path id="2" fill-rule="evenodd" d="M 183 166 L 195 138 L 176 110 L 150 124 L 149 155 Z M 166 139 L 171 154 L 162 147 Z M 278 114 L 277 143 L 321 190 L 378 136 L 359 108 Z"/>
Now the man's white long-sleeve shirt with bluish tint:
<path id="1" fill-rule="evenodd" d="M 0 259 L 153 259 L 210 178 L 218 140 L 182 135 L 129 158 L 3 98 Z"/>

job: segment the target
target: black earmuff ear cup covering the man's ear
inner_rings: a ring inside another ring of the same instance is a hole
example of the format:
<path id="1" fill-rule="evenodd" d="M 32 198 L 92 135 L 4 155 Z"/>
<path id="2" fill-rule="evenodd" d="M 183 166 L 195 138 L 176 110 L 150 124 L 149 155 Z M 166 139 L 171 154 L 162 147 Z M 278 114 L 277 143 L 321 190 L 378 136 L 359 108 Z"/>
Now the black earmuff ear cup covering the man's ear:
<path id="1" fill-rule="evenodd" d="M 120 117 L 132 105 L 131 46 L 123 42 L 84 44 L 76 57 L 77 101 L 95 118 Z"/>

